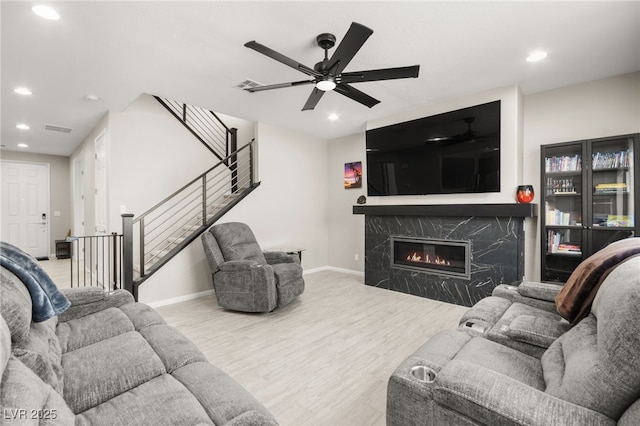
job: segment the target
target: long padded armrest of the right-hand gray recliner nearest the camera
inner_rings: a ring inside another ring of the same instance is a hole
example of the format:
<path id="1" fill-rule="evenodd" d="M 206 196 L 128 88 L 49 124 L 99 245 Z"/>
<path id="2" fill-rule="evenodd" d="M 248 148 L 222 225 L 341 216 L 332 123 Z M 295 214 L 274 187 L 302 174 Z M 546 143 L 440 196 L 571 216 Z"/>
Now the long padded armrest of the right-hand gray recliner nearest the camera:
<path id="1" fill-rule="evenodd" d="M 601 413 L 465 361 L 447 363 L 433 385 L 437 406 L 483 424 L 616 424 Z"/>

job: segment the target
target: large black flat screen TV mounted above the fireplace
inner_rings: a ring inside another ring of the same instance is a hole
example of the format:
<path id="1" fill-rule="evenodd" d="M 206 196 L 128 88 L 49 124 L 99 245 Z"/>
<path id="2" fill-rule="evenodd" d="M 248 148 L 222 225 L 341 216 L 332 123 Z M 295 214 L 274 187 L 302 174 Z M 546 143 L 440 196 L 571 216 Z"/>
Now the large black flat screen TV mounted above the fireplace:
<path id="1" fill-rule="evenodd" d="M 366 132 L 369 196 L 500 192 L 500 101 Z"/>

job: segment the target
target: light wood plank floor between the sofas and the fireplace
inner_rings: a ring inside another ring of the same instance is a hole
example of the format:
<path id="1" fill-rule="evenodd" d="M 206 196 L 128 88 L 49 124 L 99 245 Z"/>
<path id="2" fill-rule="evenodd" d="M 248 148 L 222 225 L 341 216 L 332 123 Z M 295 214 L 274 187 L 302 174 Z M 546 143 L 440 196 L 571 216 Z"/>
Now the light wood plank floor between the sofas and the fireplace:
<path id="1" fill-rule="evenodd" d="M 215 297 L 158 308 L 282 426 L 384 425 L 387 380 L 467 308 L 365 286 L 334 271 L 305 275 L 296 301 L 268 314 Z"/>

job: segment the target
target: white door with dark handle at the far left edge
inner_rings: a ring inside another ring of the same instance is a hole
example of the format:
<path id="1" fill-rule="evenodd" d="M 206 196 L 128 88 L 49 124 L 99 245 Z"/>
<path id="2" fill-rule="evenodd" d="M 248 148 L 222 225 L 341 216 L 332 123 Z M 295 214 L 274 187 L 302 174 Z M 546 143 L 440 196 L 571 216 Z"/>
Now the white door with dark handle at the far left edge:
<path id="1" fill-rule="evenodd" d="M 49 256 L 49 165 L 2 161 L 2 241 Z"/>

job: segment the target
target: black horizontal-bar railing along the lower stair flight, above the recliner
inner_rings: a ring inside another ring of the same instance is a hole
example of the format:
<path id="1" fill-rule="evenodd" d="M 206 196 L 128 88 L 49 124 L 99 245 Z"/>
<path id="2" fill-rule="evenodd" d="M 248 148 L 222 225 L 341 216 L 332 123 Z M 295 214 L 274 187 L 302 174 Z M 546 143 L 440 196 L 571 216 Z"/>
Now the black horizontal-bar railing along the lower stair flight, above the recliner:
<path id="1" fill-rule="evenodd" d="M 122 215 L 123 282 L 136 300 L 142 282 L 259 185 L 253 147 L 230 153 L 135 219 Z"/>

